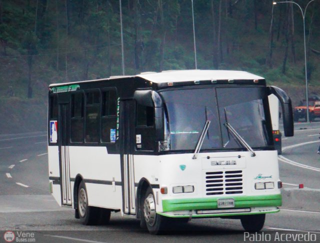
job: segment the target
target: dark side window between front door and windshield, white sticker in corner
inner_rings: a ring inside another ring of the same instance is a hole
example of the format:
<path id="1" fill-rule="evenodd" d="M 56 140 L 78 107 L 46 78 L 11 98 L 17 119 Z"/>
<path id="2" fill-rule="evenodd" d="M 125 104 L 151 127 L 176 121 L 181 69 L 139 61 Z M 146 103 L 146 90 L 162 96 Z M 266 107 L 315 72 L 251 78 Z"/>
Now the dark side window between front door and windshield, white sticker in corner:
<path id="1" fill-rule="evenodd" d="M 155 131 L 153 107 L 136 104 L 135 134 L 140 140 L 136 142 L 137 150 L 154 150 Z"/>

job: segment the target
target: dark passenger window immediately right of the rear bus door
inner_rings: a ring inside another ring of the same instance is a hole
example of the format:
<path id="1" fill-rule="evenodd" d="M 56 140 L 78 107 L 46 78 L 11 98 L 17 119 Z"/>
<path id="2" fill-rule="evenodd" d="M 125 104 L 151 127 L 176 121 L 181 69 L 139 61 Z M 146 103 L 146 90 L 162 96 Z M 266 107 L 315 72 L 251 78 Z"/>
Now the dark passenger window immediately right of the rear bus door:
<path id="1" fill-rule="evenodd" d="M 71 142 L 83 141 L 83 93 L 71 95 Z"/>

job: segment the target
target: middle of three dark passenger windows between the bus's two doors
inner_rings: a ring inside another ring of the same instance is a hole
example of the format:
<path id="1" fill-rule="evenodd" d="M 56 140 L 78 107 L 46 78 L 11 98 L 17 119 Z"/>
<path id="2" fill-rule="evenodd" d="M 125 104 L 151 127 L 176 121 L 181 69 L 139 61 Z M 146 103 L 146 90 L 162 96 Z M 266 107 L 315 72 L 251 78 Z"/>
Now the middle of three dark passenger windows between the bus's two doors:
<path id="1" fill-rule="evenodd" d="M 85 142 L 99 141 L 100 92 L 86 93 Z"/>

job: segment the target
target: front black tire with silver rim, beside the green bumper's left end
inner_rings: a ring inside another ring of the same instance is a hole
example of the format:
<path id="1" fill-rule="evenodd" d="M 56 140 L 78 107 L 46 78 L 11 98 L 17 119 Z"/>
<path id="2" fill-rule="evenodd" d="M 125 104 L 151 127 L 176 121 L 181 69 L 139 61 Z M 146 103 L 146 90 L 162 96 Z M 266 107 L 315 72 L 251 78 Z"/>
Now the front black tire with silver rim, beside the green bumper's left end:
<path id="1" fill-rule="evenodd" d="M 165 224 L 167 222 L 167 218 L 156 213 L 156 203 L 150 187 L 145 191 L 142 201 L 140 225 L 145 223 L 149 233 L 151 234 L 163 233 L 166 229 Z"/>

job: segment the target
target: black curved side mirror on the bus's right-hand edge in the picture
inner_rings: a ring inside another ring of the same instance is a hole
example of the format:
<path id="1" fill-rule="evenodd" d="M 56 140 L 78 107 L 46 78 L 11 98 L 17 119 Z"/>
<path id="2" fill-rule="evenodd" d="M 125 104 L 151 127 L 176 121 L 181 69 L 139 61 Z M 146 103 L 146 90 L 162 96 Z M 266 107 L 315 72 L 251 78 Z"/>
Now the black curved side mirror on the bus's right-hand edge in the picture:
<path id="1" fill-rule="evenodd" d="M 290 97 L 281 89 L 276 86 L 267 86 L 268 94 L 274 94 L 281 103 L 283 129 L 285 136 L 293 136 L 293 112 Z"/>

